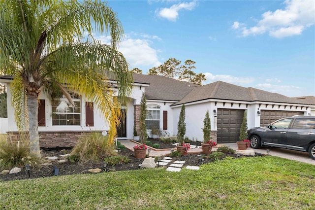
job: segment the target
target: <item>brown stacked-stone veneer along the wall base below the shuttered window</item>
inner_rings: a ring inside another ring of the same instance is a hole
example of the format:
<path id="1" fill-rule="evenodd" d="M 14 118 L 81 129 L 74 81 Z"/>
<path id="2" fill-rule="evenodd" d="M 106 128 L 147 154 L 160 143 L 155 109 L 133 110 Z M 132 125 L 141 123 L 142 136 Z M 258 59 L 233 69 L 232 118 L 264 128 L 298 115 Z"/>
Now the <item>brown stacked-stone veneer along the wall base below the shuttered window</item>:
<path id="1" fill-rule="evenodd" d="M 82 136 L 90 135 L 92 132 L 101 131 L 39 131 L 39 146 L 45 148 L 72 147 Z M 29 132 L 8 131 L 7 135 L 13 140 L 18 140 L 21 135 L 29 136 Z"/>

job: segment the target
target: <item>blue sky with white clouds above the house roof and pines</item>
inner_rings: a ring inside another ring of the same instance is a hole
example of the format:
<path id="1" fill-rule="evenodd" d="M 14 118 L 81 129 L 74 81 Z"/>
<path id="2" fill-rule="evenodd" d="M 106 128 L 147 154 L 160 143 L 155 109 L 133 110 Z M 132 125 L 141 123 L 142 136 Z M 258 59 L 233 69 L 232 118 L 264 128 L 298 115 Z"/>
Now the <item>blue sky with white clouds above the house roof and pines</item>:
<path id="1" fill-rule="evenodd" d="M 195 61 L 203 84 L 224 81 L 288 97 L 315 96 L 315 1 L 107 1 L 130 69 Z M 95 35 L 108 43 L 106 35 Z"/>

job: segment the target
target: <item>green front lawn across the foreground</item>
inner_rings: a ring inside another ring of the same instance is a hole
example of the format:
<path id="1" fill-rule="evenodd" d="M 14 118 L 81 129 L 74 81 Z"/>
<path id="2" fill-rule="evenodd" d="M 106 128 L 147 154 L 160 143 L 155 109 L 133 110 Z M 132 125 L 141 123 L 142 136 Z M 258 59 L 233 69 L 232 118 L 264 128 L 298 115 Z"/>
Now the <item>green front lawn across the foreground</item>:
<path id="1" fill-rule="evenodd" d="M 0 209 L 314 210 L 315 166 L 227 158 L 199 171 L 165 168 L 0 182 Z"/>

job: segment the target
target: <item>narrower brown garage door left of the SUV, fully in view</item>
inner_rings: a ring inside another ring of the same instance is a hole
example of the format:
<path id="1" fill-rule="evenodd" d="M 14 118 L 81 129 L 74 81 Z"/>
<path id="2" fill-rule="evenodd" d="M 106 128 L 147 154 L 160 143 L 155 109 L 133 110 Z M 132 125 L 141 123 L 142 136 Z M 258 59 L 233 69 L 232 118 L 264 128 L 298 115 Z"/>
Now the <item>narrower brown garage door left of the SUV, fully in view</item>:
<path id="1" fill-rule="evenodd" d="M 218 143 L 233 143 L 239 140 L 243 115 L 242 109 L 218 109 Z"/>

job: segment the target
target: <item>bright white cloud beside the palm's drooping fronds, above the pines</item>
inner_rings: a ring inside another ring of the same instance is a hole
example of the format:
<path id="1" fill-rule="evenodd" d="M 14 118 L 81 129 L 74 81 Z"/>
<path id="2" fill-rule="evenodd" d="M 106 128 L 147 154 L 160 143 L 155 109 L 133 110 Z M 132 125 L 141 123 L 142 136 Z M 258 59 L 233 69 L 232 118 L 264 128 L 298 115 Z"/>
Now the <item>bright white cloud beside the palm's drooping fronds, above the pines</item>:
<path id="1" fill-rule="evenodd" d="M 148 39 L 131 38 L 130 35 L 126 35 L 126 37 L 125 40 L 121 41 L 118 50 L 123 53 L 131 69 L 139 68 L 139 66 L 152 68 L 161 64 L 158 61 L 158 50 L 150 46 L 152 42 L 149 39 L 157 39 L 158 36 L 148 35 Z M 110 44 L 110 36 L 99 36 L 95 39 L 100 40 L 103 44 Z"/>

